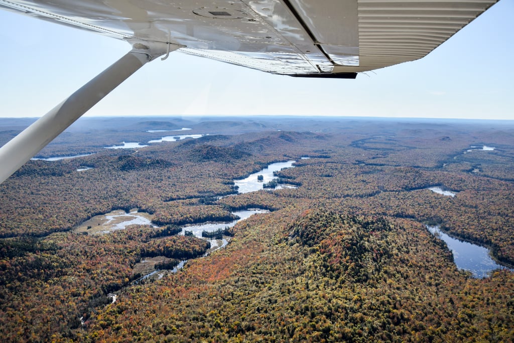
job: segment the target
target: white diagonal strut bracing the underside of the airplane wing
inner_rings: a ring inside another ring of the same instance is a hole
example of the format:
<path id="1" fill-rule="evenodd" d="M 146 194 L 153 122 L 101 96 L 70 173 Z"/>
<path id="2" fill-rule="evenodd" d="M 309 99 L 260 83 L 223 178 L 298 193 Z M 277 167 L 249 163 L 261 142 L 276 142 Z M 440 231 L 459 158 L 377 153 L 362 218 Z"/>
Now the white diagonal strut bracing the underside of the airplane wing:
<path id="1" fill-rule="evenodd" d="M 125 56 L 7 142 L 0 148 L 0 184 L 146 62 L 164 55 L 169 45 L 134 44 Z"/>

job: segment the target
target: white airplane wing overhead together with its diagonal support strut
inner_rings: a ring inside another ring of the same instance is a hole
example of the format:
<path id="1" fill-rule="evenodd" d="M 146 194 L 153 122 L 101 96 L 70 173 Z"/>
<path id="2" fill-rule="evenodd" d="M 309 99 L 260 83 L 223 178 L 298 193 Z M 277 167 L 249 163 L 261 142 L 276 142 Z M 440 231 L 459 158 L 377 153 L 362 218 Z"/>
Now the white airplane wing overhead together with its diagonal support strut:
<path id="1" fill-rule="evenodd" d="M 0 149 L 0 165 L 9 166 L 0 170 L 0 183 L 143 64 L 170 51 L 273 74 L 355 78 L 426 56 L 496 2 L 0 0 L 0 8 L 133 47 Z"/>

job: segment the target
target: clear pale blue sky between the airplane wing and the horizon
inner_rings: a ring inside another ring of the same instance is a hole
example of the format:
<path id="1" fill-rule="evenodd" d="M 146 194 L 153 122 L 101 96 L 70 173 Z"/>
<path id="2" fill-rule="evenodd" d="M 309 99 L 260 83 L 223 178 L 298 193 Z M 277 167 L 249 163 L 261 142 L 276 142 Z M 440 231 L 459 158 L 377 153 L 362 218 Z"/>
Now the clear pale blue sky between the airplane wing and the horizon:
<path id="1" fill-rule="evenodd" d="M 514 0 L 501 0 L 418 61 L 356 80 L 271 75 L 170 53 L 85 116 L 371 116 L 514 120 Z M 0 10 L 0 117 L 41 117 L 130 46 Z"/>

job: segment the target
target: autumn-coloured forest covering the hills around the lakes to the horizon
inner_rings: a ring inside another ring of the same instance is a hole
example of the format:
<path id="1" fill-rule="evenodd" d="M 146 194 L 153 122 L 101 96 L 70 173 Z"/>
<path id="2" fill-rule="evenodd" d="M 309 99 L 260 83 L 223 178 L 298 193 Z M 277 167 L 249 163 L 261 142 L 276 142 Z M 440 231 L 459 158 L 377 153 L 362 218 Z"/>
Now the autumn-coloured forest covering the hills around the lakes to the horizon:
<path id="1" fill-rule="evenodd" d="M 0 185 L 2 341 L 514 340 L 510 121 L 85 118 L 37 157 Z M 151 225 L 103 229 L 136 209 Z M 508 268 L 473 277 L 427 224 Z"/>

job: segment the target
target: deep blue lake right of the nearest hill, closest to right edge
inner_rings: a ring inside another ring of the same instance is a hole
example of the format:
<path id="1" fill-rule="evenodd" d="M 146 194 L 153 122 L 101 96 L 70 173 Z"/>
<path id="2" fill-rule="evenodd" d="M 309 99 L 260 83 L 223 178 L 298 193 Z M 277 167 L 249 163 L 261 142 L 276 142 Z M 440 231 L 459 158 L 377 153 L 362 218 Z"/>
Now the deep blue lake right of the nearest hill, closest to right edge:
<path id="1" fill-rule="evenodd" d="M 496 263 L 489 255 L 489 249 L 464 242 L 448 236 L 439 226 L 428 226 L 427 229 L 436 237 L 442 239 L 452 251 L 455 265 L 459 269 L 469 270 L 475 278 L 486 278 L 494 269 L 506 267 Z"/>

